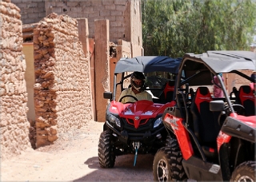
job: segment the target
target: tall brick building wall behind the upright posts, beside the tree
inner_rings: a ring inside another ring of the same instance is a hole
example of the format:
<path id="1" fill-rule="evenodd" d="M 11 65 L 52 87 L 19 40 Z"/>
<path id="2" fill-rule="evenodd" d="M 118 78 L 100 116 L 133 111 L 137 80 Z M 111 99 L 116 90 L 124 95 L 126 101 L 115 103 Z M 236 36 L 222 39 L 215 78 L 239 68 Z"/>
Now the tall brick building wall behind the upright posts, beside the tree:
<path id="1" fill-rule="evenodd" d="M 110 41 L 117 43 L 122 39 L 142 46 L 140 8 L 140 0 L 46 0 L 46 15 L 55 12 L 72 18 L 88 18 L 90 38 L 94 38 L 94 21 L 108 19 Z"/>

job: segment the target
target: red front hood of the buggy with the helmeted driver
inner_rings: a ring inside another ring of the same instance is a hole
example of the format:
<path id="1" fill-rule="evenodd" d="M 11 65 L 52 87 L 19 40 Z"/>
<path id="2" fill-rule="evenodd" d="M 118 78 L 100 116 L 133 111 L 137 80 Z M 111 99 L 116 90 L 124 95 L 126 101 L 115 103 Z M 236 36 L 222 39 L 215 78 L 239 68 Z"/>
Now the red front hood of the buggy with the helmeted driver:
<path id="1" fill-rule="evenodd" d="M 158 114 L 163 113 L 167 107 L 174 105 L 175 102 L 168 102 L 163 105 L 146 100 L 127 104 L 111 101 L 110 112 L 118 114 L 119 117 L 126 118 L 127 123 L 134 125 L 134 128 L 138 129 L 139 125 L 145 125 L 150 118 L 157 117 Z"/>

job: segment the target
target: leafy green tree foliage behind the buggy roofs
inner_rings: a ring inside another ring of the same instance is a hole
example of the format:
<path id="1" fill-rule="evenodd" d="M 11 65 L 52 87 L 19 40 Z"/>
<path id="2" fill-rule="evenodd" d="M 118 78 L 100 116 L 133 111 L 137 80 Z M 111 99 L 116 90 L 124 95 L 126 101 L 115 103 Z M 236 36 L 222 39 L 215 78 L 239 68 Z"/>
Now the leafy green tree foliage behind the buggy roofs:
<path id="1" fill-rule="evenodd" d="M 249 49 L 255 26 L 252 0 L 142 0 L 145 55 Z"/>

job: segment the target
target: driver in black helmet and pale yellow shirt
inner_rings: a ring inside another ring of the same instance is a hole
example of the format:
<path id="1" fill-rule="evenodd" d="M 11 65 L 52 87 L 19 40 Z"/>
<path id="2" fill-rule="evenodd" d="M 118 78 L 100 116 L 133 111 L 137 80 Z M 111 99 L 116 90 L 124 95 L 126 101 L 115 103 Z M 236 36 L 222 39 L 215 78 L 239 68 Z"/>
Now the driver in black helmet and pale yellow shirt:
<path id="1" fill-rule="evenodd" d="M 152 101 L 152 96 L 150 95 L 150 93 L 144 90 L 145 88 L 144 83 L 145 83 L 145 76 L 143 73 L 136 72 L 136 71 L 132 73 L 130 76 L 131 87 L 124 89 L 122 91 L 122 93 L 120 94 L 120 97 L 118 98 L 118 101 L 120 101 L 120 98 L 126 95 L 134 96 L 138 99 L 138 101 L 140 100 Z M 122 103 L 135 102 L 135 100 L 133 97 L 124 97 L 122 98 L 121 102 Z"/>

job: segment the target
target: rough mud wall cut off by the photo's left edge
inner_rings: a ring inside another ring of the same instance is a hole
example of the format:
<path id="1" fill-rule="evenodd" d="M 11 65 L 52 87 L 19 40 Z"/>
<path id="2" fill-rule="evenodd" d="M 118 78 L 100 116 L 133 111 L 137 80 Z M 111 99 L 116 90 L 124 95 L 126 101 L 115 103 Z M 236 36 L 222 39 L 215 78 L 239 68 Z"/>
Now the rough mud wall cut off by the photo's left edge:
<path id="1" fill-rule="evenodd" d="M 1 158 L 30 148 L 22 21 L 19 9 L 0 1 L 0 141 Z"/>

